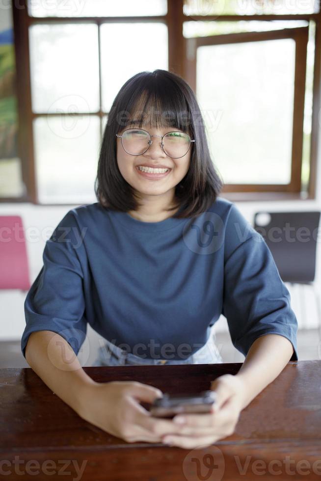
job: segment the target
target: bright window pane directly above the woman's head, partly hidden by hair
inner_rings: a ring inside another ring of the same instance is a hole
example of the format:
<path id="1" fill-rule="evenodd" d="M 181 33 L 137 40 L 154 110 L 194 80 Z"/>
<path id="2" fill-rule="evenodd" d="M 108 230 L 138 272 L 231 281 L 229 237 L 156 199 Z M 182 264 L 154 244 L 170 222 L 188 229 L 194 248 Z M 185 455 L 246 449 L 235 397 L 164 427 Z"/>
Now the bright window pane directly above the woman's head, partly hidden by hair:
<path id="1" fill-rule="evenodd" d="M 167 27 L 162 23 L 103 24 L 101 64 L 103 110 L 108 112 L 120 87 L 134 74 L 168 69 Z"/>

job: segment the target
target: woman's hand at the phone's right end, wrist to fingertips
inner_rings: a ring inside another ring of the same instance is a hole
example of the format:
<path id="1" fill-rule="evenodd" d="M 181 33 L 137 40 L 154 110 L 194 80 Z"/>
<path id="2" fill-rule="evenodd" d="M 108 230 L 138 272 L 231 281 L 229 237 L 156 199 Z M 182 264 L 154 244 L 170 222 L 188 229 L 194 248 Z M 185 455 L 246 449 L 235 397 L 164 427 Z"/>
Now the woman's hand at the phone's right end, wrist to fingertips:
<path id="1" fill-rule="evenodd" d="M 184 419 L 180 434 L 167 434 L 163 443 L 181 448 L 201 448 L 233 434 L 238 423 L 245 397 L 243 382 L 237 375 L 224 374 L 211 383 L 217 394 L 210 414 L 179 414 Z"/>

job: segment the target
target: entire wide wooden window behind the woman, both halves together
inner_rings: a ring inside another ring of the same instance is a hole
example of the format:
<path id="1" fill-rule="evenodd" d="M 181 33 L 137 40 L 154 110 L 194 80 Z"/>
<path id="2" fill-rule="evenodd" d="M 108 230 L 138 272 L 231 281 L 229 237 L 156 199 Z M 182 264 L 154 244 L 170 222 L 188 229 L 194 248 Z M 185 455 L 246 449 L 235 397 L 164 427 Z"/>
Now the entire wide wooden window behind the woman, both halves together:
<path id="1" fill-rule="evenodd" d="M 129 77 L 156 68 L 194 89 L 223 195 L 314 197 L 318 2 L 33 0 L 13 14 L 27 187 L 17 200 L 95 202 L 111 103 Z"/>

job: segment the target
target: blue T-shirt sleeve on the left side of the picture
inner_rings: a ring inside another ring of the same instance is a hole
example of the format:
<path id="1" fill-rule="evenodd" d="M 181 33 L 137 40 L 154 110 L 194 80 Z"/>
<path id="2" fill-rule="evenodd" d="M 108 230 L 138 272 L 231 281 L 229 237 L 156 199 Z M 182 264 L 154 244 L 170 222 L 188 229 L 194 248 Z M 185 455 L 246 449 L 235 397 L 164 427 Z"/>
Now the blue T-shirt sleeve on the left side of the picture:
<path id="1" fill-rule="evenodd" d="M 21 339 L 24 357 L 28 337 L 34 331 L 58 333 L 76 355 L 85 339 L 87 323 L 78 230 L 75 216 L 69 211 L 46 242 L 43 267 L 25 300 L 26 327 Z"/>

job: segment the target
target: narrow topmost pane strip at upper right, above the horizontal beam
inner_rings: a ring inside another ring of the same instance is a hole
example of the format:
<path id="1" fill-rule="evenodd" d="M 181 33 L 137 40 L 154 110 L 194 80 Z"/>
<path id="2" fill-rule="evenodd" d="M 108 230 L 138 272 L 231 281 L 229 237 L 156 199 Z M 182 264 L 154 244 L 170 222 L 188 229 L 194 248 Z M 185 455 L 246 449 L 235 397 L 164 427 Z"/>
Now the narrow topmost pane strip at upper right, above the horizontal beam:
<path id="1" fill-rule="evenodd" d="M 185 15 L 291 15 L 319 11 L 318 0 L 184 0 Z"/>

